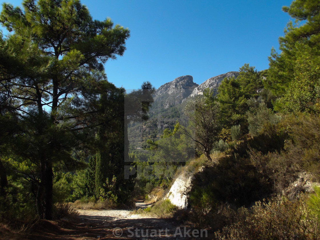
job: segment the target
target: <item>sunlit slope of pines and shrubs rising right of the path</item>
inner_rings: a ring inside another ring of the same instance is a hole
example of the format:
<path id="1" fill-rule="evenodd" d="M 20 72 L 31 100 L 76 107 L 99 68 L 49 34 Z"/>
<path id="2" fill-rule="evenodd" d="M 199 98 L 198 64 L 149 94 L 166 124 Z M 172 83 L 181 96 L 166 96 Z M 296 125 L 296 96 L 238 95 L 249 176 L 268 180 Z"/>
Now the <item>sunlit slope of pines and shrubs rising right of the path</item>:
<path id="1" fill-rule="evenodd" d="M 281 52 L 271 50 L 269 69 L 244 64 L 217 94 L 208 88 L 186 99 L 186 118 L 167 114 L 174 128 L 167 120 L 167 129 L 152 132 L 150 122 L 165 125 L 141 123 L 148 145 L 131 149 L 147 169 L 138 183 L 148 196 L 157 186 L 168 196 L 176 176 L 196 172 L 179 219 L 211 227 L 217 239 L 319 239 L 319 6 L 294 1 L 283 10 L 296 22 L 279 38 Z"/>

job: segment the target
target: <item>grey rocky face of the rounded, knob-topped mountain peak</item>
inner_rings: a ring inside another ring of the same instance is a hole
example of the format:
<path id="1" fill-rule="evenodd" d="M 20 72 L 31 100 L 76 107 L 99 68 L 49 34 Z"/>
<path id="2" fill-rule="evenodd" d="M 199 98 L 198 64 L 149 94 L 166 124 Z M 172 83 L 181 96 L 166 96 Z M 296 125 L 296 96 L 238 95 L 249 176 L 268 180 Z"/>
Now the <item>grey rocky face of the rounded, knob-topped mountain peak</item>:
<path id="1" fill-rule="evenodd" d="M 155 101 L 163 101 L 163 107 L 181 104 L 198 86 L 190 75 L 180 76 L 170 83 L 163 84 L 153 96 Z"/>

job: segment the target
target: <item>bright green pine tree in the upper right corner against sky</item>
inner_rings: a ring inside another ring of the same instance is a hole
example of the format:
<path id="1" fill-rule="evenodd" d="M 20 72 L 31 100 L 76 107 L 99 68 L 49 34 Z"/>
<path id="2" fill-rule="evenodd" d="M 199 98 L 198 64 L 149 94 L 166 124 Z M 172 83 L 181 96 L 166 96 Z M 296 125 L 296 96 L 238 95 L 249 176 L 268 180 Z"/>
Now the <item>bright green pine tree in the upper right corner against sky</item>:
<path id="1" fill-rule="evenodd" d="M 294 80 L 297 61 L 310 60 L 311 68 L 320 65 L 320 5 L 318 0 L 295 0 L 283 7 L 295 19 L 279 38 L 280 51 L 272 49 L 266 85 L 276 97 L 282 97 Z"/>

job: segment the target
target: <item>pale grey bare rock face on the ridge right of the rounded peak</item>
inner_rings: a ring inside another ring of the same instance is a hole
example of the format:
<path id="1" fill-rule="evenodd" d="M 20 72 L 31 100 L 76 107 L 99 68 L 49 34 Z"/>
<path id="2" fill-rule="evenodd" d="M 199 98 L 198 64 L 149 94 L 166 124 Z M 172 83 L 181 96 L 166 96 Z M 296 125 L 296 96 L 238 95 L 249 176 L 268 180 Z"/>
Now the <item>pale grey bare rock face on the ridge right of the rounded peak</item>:
<path id="1" fill-rule="evenodd" d="M 203 82 L 202 84 L 197 86 L 190 94 L 190 97 L 202 95 L 206 88 L 213 89 L 213 91 L 215 93 L 217 93 L 217 89 L 218 89 L 219 85 L 221 84 L 221 81 L 225 77 L 235 77 L 236 78 L 237 76 L 239 76 L 239 72 L 228 72 L 228 73 L 220 74 L 218 76 L 209 78 L 208 80 L 206 80 L 205 82 Z"/>

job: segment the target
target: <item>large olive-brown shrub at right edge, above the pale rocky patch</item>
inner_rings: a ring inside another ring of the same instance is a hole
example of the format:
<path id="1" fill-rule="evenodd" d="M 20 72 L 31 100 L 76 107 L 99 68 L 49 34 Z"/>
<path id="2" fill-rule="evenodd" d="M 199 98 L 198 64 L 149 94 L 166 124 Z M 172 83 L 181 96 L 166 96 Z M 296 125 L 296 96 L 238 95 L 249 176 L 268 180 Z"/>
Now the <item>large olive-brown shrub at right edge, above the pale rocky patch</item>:
<path id="1" fill-rule="evenodd" d="M 320 118 L 300 114 L 283 117 L 277 125 L 265 125 L 249 141 L 245 157 L 274 183 L 276 192 L 281 192 L 301 172 L 310 172 L 315 181 L 320 180 L 319 149 Z"/>

